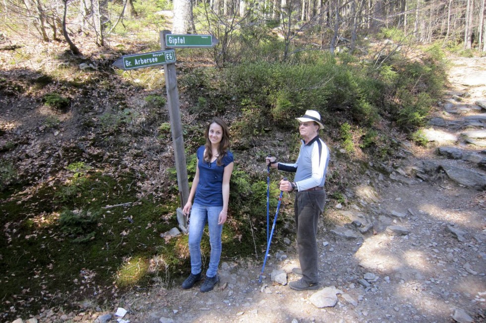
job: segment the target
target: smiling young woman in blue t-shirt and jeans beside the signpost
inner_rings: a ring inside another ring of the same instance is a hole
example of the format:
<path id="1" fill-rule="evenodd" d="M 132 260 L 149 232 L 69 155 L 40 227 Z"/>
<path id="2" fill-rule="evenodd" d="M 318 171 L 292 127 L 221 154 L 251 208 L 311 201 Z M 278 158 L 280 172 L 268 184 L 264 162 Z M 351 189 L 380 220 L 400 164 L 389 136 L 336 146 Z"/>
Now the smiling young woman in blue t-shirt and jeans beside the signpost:
<path id="1" fill-rule="evenodd" d="M 182 282 L 182 288 L 191 288 L 201 279 L 201 238 L 206 223 L 209 227 L 211 255 L 206 279 L 201 292 L 208 292 L 219 281 L 218 265 L 221 257 L 221 232 L 228 214 L 230 178 L 233 172 L 233 153 L 230 148 L 228 126 L 220 118 L 209 122 L 206 144 L 197 149 L 197 167 L 184 214 L 189 214 L 189 253 L 191 274 Z M 194 205 L 192 205 L 194 199 Z M 192 209 L 192 210 L 191 210 Z"/>

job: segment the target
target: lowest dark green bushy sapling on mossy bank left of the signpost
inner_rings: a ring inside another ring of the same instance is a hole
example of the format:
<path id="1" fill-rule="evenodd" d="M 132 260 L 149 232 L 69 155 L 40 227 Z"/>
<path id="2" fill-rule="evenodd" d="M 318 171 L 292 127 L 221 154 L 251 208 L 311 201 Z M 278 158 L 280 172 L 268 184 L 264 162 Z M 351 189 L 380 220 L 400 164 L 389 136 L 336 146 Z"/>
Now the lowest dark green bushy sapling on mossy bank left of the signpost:
<path id="1" fill-rule="evenodd" d="M 94 239 L 100 212 L 87 210 L 64 210 L 59 216 L 61 231 L 73 238 L 73 242 L 83 243 Z"/>

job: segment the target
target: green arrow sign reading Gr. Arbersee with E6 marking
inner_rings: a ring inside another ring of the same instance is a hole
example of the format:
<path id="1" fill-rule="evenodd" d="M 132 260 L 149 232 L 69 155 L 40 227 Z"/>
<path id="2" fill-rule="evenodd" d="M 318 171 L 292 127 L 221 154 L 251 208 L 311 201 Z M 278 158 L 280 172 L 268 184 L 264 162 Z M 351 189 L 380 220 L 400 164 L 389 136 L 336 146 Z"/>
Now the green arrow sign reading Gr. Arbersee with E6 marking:
<path id="1" fill-rule="evenodd" d="M 123 70 L 149 67 L 176 62 L 174 49 L 153 51 L 143 54 L 125 55 L 118 59 L 113 65 Z"/>

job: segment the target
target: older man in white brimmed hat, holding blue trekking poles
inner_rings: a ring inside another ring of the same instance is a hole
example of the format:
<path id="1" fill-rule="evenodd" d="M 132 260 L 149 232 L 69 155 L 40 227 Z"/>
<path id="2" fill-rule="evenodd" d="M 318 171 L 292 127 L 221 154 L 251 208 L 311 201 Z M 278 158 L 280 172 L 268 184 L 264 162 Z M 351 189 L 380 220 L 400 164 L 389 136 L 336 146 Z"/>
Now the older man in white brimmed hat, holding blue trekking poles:
<path id="1" fill-rule="evenodd" d="M 324 126 L 317 111 L 307 110 L 299 120 L 302 145 L 294 164 L 280 163 L 276 157 L 267 157 L 267 165 L 285 172 L 296 173 L 294 182 L 280 181 L 280 189 L 295 191 L 295 222 L 297 248 L 301 268 L 294 268 L 294 274 L 302 278 L 289 283 L 294 290 L 319 288 L 317 224 L 324 210 L 326 191 L 324 183 L 329 163 L 329 149 L 319 138 L 319 130 Z"/>

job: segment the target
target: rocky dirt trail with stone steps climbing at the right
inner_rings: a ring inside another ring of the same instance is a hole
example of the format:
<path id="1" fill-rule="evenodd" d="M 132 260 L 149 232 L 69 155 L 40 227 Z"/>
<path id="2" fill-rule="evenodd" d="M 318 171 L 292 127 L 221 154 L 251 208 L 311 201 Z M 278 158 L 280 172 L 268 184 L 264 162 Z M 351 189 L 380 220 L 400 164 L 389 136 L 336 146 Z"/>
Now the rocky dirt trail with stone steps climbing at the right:
<path id="1" fill-rule="evenodd" d="M 486 58 L 453 64 L 427 147 L 403 142 L 400 164 L 370 163 L 354 203 L 328 205 L 349 221 L 319 229 L 319 290 L 288 287 L 300 277 L 287 241 L 261 284 L 261 263 L 226 260 L 208 293 L 160 284 L 125 295 L 123 316 L 46 311 L 39 322 L 486 322 Z"/>

